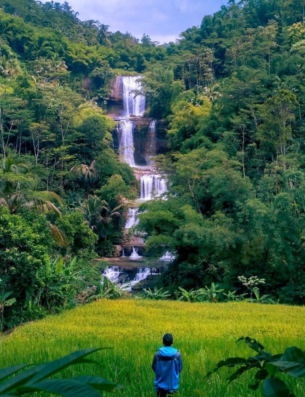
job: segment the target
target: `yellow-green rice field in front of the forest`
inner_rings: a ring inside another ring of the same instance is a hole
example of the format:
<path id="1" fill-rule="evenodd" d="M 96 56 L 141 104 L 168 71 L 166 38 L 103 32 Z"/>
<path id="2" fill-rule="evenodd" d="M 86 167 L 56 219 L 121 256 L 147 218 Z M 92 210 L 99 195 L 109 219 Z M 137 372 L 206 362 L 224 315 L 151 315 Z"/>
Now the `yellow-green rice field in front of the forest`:
<path id="1" fill-rule="evenodd" d="M 203 378 L 222 358 L 255 354 L 245 343 L 235 343 L 241 335 L 258 339 L 271 353 L 281 353 L 293 345 L 305 350 L 305 307 L 100 300 L 16 328 L 2 337 L 0 364 L 39 363 L 77 349 L 113 347 L 94 354 L 92 358 L 100 366 L 74 366 L 63 376 L 99 375 L 124 384 L 122 391 L 115 392 L 117 396 L 151 397 L 155 395 L 151 361 L 165 332 L 173 333 L 174 347 L 183 358 L 181 395 L 261 396 L 261 390 L 247 388 L 250 374 L 229 386 L 226 376 L 232 370 L 222 369 L 207 381 Z M 305 395 L 303 380 L 290 378 L 288 384 L 296 396 Z"/>

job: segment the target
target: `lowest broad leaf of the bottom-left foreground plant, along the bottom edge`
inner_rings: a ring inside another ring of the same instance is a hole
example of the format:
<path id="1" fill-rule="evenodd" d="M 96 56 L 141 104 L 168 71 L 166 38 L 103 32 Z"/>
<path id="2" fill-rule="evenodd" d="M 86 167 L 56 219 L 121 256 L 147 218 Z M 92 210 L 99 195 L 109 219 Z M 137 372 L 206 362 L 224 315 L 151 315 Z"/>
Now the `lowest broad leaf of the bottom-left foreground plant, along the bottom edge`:
<path id="1" fill-rule="evenodd" d="M 75 382 L 70 379 L 50 379 L 22 387 L 18 395 L 33 393 L 35 391 L 47 391 L 64 397 L 101 397 L 100 393 L 88 384 Z"/>

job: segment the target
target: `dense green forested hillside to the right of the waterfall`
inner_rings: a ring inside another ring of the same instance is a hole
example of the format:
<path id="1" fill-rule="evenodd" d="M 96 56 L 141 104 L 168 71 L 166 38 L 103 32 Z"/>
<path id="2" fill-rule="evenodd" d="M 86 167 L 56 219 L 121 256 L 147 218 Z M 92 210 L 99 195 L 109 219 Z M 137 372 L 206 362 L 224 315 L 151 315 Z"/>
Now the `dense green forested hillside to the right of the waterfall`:
<path id="1" fill-rule="evenodd" d="M 157 164 L 169 193 L 142 205 L 138 229 L 151 254 L 176 255 L 166 288 L 214 281 L 242 293 L 238 276 L 256 275 L 264 293 L 304 301 L 302 18 L 297 2 L 230 2 L 149 66 L 150 112 L 168 122 Z M 152 79 L 159 68 L 176 79 L 170 110 Z"/>

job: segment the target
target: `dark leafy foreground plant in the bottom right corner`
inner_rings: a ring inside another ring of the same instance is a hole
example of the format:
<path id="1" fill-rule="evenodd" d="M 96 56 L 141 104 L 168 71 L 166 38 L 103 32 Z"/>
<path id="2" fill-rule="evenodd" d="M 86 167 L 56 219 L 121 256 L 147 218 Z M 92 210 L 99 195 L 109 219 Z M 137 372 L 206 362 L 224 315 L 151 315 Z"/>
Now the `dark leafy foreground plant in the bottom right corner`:
<path id="1" fill-rule="evenodd" d="M 295 397 L 286 386 L 286 384 L 276 377 L 278 373 L 285 373 L 294 378 L 305 377 L 305 352 L 293 346 L 288 347 L 284 354 L 272 355 L 264 351 L 264 346 L 256 339 L 249 336 L 241 337 L 236 342 L 244 341 L 253 349 L 257 355 L 249 358 L 230 357 L 226 360 L 221 360 L 216 364 L 212 372 L 208 372 L 205 377 L 210 376 L 222 367 L 232 368 L 239 366 L 239 368 L 228 377 L 229 384 L 239 378 L 244 372 L 257 369 L 254 375 L 254 383 L 249 385 L 252 390 L 257 390 L 261 382 L 263 383 L 263 392 L 265 397 Z"/>

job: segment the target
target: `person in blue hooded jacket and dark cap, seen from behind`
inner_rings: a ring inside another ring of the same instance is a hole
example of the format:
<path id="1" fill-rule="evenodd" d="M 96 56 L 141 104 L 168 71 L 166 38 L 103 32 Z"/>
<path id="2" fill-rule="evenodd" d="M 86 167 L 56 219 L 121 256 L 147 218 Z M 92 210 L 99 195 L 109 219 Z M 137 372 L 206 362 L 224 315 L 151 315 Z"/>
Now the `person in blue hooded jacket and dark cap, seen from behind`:
<path id="1" fill-rule="evenodd" d="M 182 370 L 182 358 L 177 349 L 172 347 L 173 335 L 163 335 L 163 345 L 152 360 L 152 370 L 155 373 L 154 389 L 157 397 L 166 397 L 176 393 L 179 387 L 179 375 Z"/>

